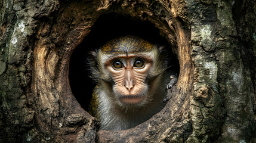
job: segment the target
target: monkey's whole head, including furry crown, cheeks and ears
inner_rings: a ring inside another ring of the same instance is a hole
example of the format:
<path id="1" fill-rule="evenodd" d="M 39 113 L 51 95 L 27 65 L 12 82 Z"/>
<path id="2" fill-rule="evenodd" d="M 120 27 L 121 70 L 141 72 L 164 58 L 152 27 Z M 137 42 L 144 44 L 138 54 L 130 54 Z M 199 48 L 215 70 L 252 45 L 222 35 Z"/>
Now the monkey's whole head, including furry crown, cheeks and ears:
<path id="1" fill-rule="evenodd" d="M 161 48 L 134 36 L 109 41 L 93 52 L 92 76 L 119 105 L 149 103 L 166 65 Z M 153 80 L 154 79 L 154 80 Z M 106 84 L 107 83 L 107 84 Z"/>

